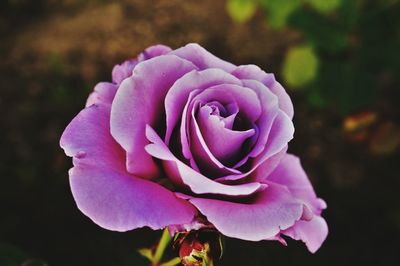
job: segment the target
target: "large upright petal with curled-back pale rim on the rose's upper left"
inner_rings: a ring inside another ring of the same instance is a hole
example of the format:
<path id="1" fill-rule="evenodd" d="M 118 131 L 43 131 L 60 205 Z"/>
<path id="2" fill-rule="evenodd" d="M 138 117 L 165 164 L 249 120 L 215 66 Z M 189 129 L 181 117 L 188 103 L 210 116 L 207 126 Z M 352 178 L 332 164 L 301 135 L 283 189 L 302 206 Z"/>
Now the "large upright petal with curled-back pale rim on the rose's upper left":
<path id="1" fill-rule="evenodd" d="M 145 125 L 162 118 L 165 95 L 172 84 L 196 67 L 174 55 L 162 55 L 138 64 L 125 79 L 111 109 L 111 134 L 127 152 L 127 169 L 140 177 L 158 175 L 158 166 L 144 150 Z"/>

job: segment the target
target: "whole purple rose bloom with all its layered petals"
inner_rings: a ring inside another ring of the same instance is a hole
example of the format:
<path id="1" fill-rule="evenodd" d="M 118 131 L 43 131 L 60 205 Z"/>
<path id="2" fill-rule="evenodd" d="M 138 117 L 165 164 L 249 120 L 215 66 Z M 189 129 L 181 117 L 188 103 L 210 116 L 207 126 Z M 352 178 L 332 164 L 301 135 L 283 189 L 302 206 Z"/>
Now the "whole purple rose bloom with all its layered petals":
<path id="1" fill-rule="evenodd" d="M 95 86 L 60 145 L 78 208 L 103 228 L 286 235 L 315 252 L 326 204 L 287 153 L 292 117 L 273 74 L 198 44 L 156 45 Z"/>

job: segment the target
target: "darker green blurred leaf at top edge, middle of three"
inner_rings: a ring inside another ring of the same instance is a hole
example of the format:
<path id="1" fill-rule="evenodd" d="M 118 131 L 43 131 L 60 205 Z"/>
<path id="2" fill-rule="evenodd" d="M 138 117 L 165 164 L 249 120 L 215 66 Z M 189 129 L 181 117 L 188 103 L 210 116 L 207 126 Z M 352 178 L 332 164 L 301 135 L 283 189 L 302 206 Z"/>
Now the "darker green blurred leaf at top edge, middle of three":
<path id="1" fill-rule="evenodd" d="M 284 27 L 300 4 L 300 0 L 261 0 L 261 5 L 268 14 L 268 25 L 275 29 Z"/>

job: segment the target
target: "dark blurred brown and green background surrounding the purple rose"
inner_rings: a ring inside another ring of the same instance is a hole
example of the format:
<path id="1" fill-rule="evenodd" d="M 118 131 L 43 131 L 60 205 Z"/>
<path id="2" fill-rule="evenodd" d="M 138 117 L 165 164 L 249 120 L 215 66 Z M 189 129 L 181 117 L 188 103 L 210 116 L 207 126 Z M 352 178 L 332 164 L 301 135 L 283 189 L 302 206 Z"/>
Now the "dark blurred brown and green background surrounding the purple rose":
<path id="1" fill-rule="evenodd" d="M 400 265 L 400 1 L 2 0 L 0 265 L 147 265 L 161 232 L 101 229 L 77 209 L 59 137 L 112 67 L 198 42 L 276 74 L 295 106 L 290 152 L 328 203 L 330 234 L 227 239 L 220 265 Z"/>

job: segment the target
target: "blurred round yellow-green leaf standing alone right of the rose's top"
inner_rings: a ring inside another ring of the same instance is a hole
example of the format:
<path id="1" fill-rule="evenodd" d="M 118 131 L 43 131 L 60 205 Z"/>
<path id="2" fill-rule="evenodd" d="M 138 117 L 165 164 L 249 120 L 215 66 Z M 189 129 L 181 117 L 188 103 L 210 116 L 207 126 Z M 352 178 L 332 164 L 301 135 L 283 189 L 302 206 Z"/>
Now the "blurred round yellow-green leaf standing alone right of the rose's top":
<path id="1" fill-rule="evenodd" d="M 291 87 L 303 87 L 316 78 L 318 65 L 318 57 L 310 46 L 293 47 L 283 63 L 283 77 Z"/>

